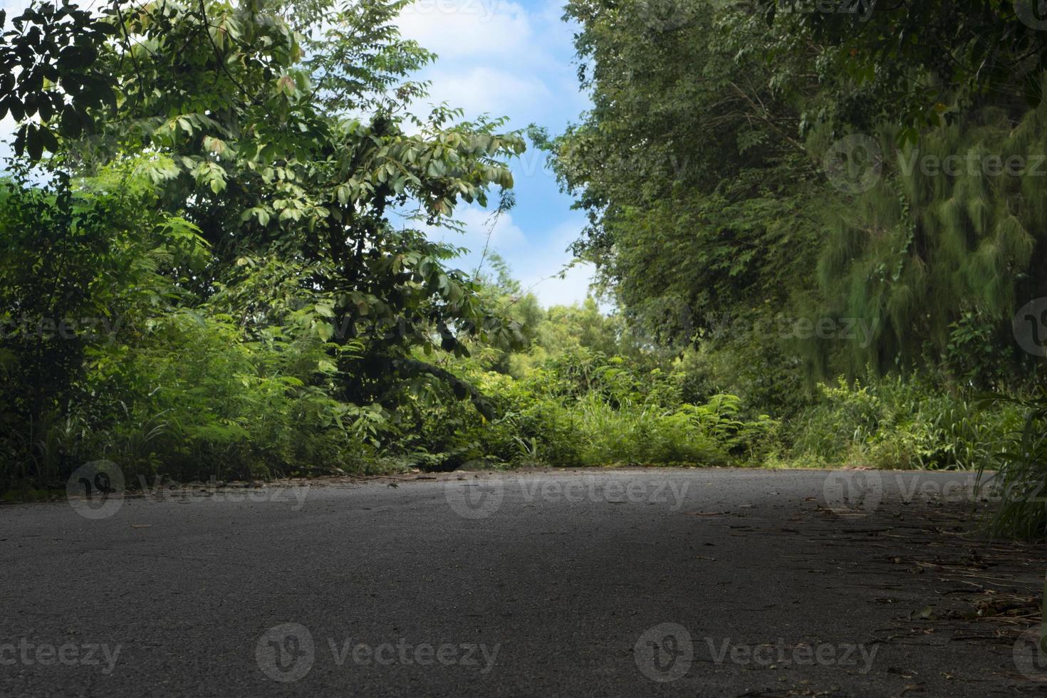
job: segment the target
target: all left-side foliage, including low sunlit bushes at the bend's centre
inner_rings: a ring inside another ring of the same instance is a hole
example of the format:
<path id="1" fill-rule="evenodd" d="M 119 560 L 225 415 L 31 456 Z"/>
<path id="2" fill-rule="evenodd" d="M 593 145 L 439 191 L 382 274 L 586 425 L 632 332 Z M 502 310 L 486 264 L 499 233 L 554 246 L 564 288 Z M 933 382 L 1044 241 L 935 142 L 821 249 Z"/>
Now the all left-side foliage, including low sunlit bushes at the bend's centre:
<path id="1" fill-rule="evenodd" d="M 0 489 L 61 487 L 99 458 L 134 483 L 765 450 L 770 418 L 691 400 L 620 319 L 540 309 L 500 261 L 476 278 L 425 235 L 460 202 L 508 209 L 524 141 L 413 115 L 408 74 L 432 57 L 399 39 L 403 5 L 13 20 Z"/>

